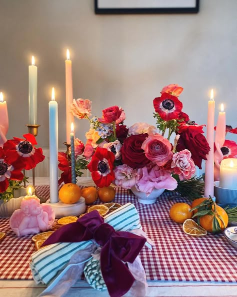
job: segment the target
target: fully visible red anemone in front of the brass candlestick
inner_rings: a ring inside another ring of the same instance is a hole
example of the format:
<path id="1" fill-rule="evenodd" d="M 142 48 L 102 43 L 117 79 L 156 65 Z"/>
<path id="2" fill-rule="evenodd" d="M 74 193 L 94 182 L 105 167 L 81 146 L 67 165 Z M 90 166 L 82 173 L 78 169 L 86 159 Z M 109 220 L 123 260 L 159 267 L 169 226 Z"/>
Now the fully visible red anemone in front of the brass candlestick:
<path id="1" fill-rule="evenodd" d="M 24 134 L 25 139 L 13 137 L 3 145 L 5 159 L 9 164 L 17 162 L 21 168 L 30 170 L 44 160 L 41 148 L 35 148 L 37 144 L 32 134 Z"/>

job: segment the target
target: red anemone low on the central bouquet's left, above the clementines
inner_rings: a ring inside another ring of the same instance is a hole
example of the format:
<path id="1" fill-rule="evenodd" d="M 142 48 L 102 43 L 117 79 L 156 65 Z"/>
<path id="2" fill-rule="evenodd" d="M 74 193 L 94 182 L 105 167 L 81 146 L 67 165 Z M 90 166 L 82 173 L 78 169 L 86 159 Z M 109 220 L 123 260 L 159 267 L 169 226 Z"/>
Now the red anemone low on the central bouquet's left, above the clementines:
<path id="1" fill-rule="evenodd" d="M 87 168 L 91 177 L 99 188 L 108 187 L 114 180 L 113 162 L 114 154 L 105 148 L 97 147 Z"/>

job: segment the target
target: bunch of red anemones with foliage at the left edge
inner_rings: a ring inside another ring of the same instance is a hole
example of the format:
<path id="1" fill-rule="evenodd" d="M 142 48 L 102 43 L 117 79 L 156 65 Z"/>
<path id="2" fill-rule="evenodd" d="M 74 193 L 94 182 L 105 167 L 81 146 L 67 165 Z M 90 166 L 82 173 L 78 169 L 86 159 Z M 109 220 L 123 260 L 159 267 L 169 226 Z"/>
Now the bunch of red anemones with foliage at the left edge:
<path id="1" fill-rule="evenodd" d="M 16 198 L 16 190 L 23 187 L 22 182 L 27 180 L 24 170 L 34 168 L 44 160 L 42 149 L 35 147 L 37 144 L 35 137 L 31 134 L 24 134 L 23 137 L 25 139 L 14 137 L 6 140 L 0 147 L 1 208 L 3 207 L 2 203 L 10 202 L 11 198 Z M 11 204 L 13 203 L 11 202 Z M 10 214 L 8 213 L 8 215 Z"/>

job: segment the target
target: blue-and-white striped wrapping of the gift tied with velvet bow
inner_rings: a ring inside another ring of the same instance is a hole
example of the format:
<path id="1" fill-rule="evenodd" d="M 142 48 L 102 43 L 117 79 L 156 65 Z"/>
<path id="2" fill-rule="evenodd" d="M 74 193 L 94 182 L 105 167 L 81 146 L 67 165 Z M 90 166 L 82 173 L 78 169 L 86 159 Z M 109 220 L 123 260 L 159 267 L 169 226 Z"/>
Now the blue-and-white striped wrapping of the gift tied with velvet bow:
<path id="1" fill-rule="evenodd" d="M 141 229 L 139 215 L 131 203 L 119 207 L 104 217 L 115 231 Z M 81 242 L 59 242 L 45 246 L 32 254 L 30 268 L 36 283 L 48 285 L 60 270 L 63 270 L 71 256 L 92 244 L 92 240 Z"/>

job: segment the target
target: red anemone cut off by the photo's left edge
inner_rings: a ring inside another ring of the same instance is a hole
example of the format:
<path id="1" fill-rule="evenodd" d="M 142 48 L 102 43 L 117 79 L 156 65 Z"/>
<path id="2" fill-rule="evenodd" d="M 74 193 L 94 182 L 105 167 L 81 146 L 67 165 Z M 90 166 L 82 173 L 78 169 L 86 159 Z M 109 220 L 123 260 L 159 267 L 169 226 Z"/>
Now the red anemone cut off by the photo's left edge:
<path id="1" fill-rule="evenodd" d="M 5 192 L 9 185 L 9 179 L 22 180 L 24 175 L 21 172 L 22 167 L 15 163 L 14 166 L 9 164 L 5 159 L 5 153 L 0 147 L 0 193 Z"/>

